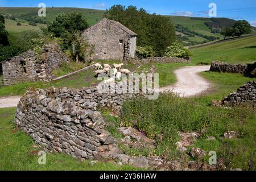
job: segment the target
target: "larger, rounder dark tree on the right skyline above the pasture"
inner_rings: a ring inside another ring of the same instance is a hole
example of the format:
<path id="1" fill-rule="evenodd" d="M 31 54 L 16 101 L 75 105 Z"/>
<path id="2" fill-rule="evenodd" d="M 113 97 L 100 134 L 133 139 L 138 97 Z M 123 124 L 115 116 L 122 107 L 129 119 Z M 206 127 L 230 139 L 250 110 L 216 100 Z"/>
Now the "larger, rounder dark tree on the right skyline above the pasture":
<path id="1" fill-rule="evenodd" d="M 240 37 L 243 34 L 250 34 L 251 26 L 246 20 L 238 20 L 233 26 L 233 35 Z"/>

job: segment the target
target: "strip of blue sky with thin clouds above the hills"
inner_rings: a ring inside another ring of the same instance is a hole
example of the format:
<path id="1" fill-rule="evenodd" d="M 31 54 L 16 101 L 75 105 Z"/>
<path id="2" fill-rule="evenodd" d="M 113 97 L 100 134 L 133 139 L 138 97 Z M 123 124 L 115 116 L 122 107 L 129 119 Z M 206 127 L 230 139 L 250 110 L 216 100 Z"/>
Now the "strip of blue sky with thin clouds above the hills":
<path id="1" fill-rule="evenodd" d="M 133 5 L 143 7 L 148 13 L 163 15 L 208 16 L 209 3 L 216 3 L 217 17 L 246 19 L 256 26 L 255 0 L 0 0 L 0 7 L 37 7 L 45 3 L 47 7 L 82 7 L 105 10 L 113 5 Z"/>

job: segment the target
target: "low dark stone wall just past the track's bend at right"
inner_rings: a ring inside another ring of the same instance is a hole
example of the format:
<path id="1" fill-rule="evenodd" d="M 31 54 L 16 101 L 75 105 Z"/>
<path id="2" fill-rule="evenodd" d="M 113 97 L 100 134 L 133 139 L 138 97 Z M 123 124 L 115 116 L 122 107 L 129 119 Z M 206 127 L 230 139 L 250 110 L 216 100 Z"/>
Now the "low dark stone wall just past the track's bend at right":
<path id="1" fill-rule="evenodd" d="M 212 61 L 211 72 L 245 73 L 247 64 L 227 64 L 225 62 Z"/>

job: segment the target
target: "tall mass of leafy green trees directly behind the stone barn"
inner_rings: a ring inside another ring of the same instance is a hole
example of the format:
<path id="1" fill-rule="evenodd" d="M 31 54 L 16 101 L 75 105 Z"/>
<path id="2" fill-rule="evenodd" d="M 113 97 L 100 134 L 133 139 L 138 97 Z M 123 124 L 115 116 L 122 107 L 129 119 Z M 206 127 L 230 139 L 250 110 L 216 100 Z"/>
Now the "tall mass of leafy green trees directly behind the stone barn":
<path id="1" fill-rule="evenodd" d="M 137 33 L 137 45 L 151 46 L 155 56 L 162 55 L 164 49 L 175 41 L 175 27 L 168 17 L 148 14 L 136 6 L 126 8 L 122 5 L 110 7 L 105 16 Z"/>

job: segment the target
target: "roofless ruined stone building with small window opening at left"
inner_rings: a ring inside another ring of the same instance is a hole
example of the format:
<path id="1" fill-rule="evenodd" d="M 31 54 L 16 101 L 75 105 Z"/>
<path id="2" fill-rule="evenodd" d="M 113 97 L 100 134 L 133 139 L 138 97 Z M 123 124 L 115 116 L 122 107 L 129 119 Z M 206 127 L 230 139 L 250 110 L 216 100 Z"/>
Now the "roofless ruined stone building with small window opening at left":
<path id="1" fill-rule="evenodd" d="M 57 44 L 44 45 L 40 52 L 23 52 L 2 62 L 3 83 L 13 85 L 17 82 L 51 80 L 52 70 L 65 61 L 68 61 L 68 58 Z"/>

